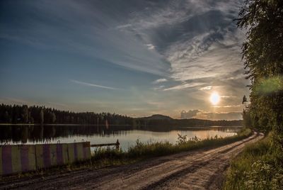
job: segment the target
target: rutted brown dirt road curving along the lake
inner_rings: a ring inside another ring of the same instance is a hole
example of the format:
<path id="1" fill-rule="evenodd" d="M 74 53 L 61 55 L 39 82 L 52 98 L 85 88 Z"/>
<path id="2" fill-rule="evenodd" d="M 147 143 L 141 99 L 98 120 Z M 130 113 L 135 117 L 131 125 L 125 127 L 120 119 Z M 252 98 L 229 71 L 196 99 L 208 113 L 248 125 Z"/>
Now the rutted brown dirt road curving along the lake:
<path id="1" fill-rule="evenodd" d="M 250 138 L 211 150 L 183 152 L 144 162 L 104 169 L 83 169 L 33 179 L 0 182 L 0 189 L 218 189 L 229 161 Z"/>

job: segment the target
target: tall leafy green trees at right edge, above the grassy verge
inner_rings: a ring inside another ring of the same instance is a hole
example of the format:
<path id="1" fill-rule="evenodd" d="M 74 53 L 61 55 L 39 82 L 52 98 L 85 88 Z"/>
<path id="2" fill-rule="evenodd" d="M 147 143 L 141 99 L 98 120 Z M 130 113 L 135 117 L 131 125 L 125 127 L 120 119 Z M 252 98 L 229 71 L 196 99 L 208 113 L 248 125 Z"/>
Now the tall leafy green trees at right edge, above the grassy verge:
<path id="1" fill-rule="evenodd" d="M 246 0 L 236 21 L 247 30 L 242 50 L 253 128 L 273 130 L 283 149 L 283 1 Z"/>

